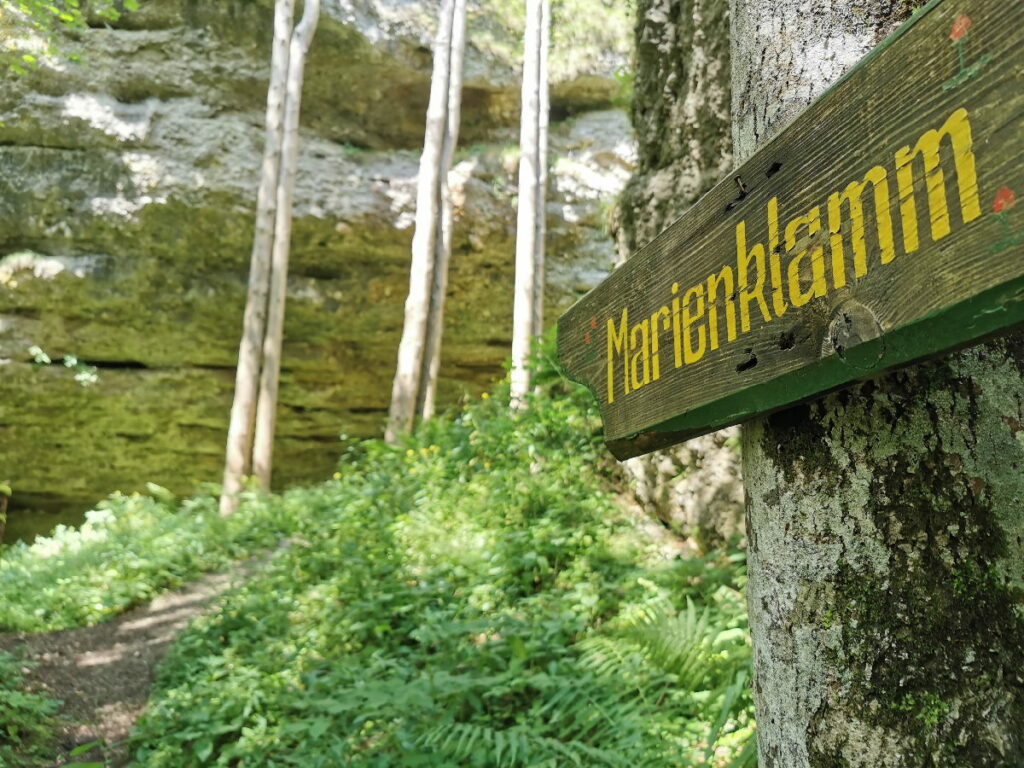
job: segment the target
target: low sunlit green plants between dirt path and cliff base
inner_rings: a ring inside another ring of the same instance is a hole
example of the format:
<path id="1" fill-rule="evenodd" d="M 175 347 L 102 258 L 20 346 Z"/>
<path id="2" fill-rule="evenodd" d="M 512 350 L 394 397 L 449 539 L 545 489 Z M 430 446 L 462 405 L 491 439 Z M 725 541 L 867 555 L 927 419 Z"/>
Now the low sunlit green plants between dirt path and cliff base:
<path id="1" fill-rule="evenodd" d="M 16 543 L 0 559 L 0 629 L 96 624 L 199 574 L 270 546 L 288 530 L 271 500 L 249 496 L 223 518 L 212 497 L 177 503 L 115 494 L 79 528 Z M 162 493 L 160 493 L 162 492 Z"/>

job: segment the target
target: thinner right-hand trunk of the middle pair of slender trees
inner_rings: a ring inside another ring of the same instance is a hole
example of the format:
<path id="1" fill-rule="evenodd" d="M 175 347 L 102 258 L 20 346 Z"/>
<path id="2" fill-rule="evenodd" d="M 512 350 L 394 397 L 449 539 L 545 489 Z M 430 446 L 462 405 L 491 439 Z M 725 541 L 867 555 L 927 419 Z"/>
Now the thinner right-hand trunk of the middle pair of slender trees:
<path id="1" fill-rule="evenodd" d="M 452 258 L 452 190 L 449 171 L 459 143 L 462 119 L 462 76 L 466 50 L 466 0 L 456 0 L 452 25 L 452 53 L 449 69 L 447 122 L 441 146 L 437 198 L 440 201 L 439 220 L 435 236 L 434 274 L 430 292 L 430 312 L 427 317 L 427 339 L 424 366 L 420 378 L 417 413 L 426 421 L 433 418 L 437 393 L 437 374 L 441 364 L 441 336 L 444 328 L 444 295 L 447 292 L 449 262 Z"/>

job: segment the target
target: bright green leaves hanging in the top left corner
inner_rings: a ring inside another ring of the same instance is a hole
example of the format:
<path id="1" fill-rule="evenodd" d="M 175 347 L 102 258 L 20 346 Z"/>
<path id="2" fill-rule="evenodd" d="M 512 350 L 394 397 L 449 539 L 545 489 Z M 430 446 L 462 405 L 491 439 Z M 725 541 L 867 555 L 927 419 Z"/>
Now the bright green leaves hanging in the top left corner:
<path id="1" fill-rule="evenodd" d="M 90 20 L 115 22 L 132 10 L 138 0 L 0 0 L 0 69 L 24 75 L 43 56 L 65 55 L 61 32 L 85 29 Z"/>

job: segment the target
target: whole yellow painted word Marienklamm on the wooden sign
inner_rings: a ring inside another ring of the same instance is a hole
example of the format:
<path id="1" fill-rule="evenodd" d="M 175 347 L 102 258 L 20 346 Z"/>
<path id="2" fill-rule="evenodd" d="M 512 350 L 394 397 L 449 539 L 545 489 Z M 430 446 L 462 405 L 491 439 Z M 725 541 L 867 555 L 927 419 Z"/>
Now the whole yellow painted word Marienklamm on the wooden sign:
<path id="1" fill-rule="evenodd" d="M 946 138 L 952 152 L 952 168 L 948 157 L 940 156 Z M 895 183 L 906 253 L 920 248 L 919 210 L 914 196 L 922 190 L 928 196 L 932 240 L 938 241 L 950 233 L 944 176 L 950 170 L 956 172 L 964 222 L 981 216 L 972 141 L 968 112 L 959 109 L 940 128 L 927 131 L 912 146 L 903 146 L 896 152 Z M 919 173 L 915 178 L 915 169 L 923 169 L 924 176 Z M 722 266 L 707 281 L 685 292 L 681 292 L 679 284 L 674 283 L 671 301 L 639 325 L 629 325 L 626 309 L 623 309 L 617 323 L 609 318 L 608 402 L 614 401 L 616 357 L 623 359 L 623 391 L 626 394 L 660 379 L 663 334 L 671 334 L 674 362 L 676 368 L 681 368 L 702 359 L 709 349 L 716 350 L 735 341 L 738 334 L 749 333 L 752 328 L 752 304 L 757 306 L 753 310 L 753 323 L 770 323 L 774 317 L 785 314 L 791 306 L 805 306 L 814 298 L 826 296 L 830 288 L 841 289 L 848 280 L 865 276 L 868 273 L 867 229 L 870 226 L 865 218 L 865 208 L 871 202 L 873 209 L 867 214 L 873 211 L 879 263 L 892 262 L 896 258 L 896 242 L 891 184 L 887 169 L 877 165 L 860 180 L 852 181 L 828 196 L 826 223 L 831 285 L 825 276 L 823 206 L 815 206 L 805 215 L 788 221 L 781 232 L 780 247 L 779 204 L 777 198 L 772 198 L 766 211 L 767 249 L 763 243 L 748 244 L 746 222 L 740 221 L 736 224 L 735 268 L 732 265 Z M 868 185 L 871 198 L 865 202 Z M 786 259 L 782 258 L 783 252 Z M 757 312 L 760 312 L 760 317 L 756 316 Z M 725 328 L 720 324 L 724 324 Z"/>

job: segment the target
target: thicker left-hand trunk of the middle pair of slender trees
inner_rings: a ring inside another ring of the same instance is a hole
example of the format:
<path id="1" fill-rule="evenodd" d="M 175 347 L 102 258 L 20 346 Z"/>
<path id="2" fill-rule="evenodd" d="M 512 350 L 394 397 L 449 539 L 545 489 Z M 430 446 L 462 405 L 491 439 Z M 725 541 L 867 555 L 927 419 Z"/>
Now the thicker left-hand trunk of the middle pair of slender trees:
<path id="1" fill-rule="evenodd" d="M 392 443 L 401 432 L 413 429 L 420 401 L 430 295 L 434 285 L 435 240 L 440 213 L 438 188 L 447 126 L 454 24 L 455 0 L 444 0 L 437 24 L 437 39 L 434 42 L 427 125 L 416 179 L 416 231 L 413 233 L 406 318 L 401 329 L 401 342 L 398 344 L 398 364 L 391 385 L 388 424 L 384 432 L 384 439 Z"/>

